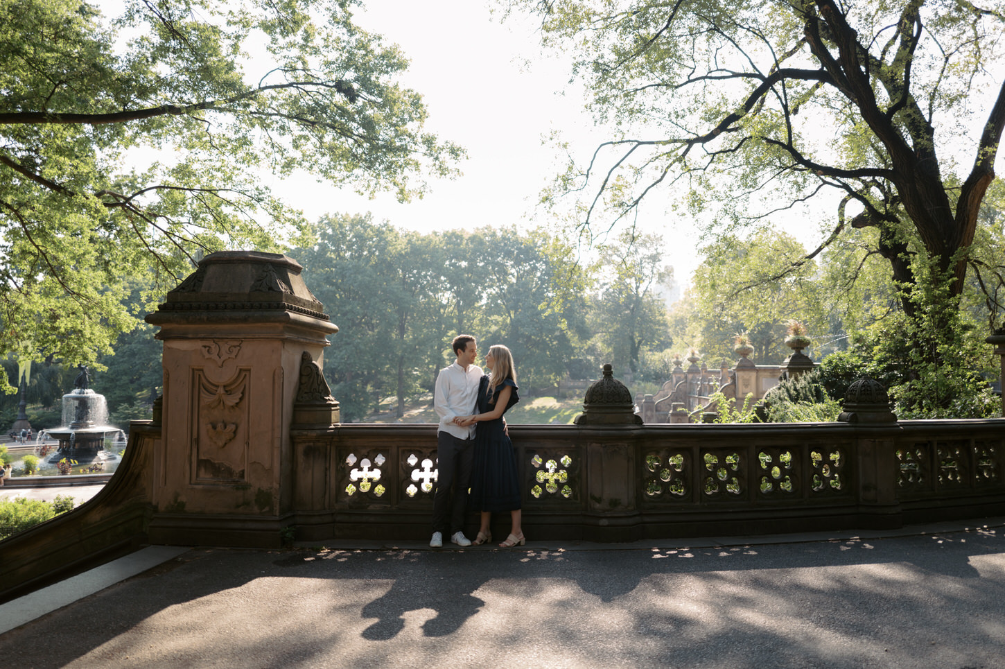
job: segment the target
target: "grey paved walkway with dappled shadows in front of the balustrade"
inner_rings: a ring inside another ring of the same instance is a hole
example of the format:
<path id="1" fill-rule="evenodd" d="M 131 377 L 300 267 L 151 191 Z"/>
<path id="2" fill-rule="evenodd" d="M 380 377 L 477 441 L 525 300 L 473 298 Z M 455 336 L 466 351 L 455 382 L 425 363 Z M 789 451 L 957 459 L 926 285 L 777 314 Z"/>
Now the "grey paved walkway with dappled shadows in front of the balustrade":
<path id="1" fill-rule="evenodd" d="M 0 663 L 1005 666 L 1005 518 L 898 533 L 195 548 L 0 635 Z"/>

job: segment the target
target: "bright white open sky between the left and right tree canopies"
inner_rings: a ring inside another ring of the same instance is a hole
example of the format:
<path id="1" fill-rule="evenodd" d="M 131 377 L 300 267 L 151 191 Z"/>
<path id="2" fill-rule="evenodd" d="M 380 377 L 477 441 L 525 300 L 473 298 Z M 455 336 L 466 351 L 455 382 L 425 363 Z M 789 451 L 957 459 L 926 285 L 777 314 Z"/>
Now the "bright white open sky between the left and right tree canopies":
<path id="1" fill-rule="evenodd" d="M 423 232 L 554 226 L 544 211 L 536 212 L 536 203 L 564 166 L 543 138 L 559 130 L 577 158 L 588 159 L 609 137 L 583 112 L 582 91 L 569 84 L 569 63 L 542 54 L 535 22 L 522 16 L 501 22 L 489 6 L 481 0 L 366 0 L 366 11 L 356 16 L 410 58 L 402 81 L 423 95 L 426 129 L 467 151 L 463 176 L 431 182 L 431 193 L 405 205 L 391 195 L 369 200 L 310 178 L 276 180 L 273 188 L 312 220 L 369 211 L 377 220 Z M 663 203 L 643 209 L 655 216 L 642 225 L 666 238 L 666 262 L 684 282 L 695 264 L 696 230 L 674 232 L 663 209 Z"/>

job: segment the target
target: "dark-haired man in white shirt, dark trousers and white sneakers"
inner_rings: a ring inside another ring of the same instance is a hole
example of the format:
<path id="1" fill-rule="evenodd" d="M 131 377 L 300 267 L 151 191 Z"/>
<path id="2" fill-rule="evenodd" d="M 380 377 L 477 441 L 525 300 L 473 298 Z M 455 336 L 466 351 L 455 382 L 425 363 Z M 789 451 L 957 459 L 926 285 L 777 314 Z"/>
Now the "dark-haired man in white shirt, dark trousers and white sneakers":
<path id="1" fill-rule="evenodd" d="M 457 545 L 471 545 L 463 529 L 467 486 L 474 457 L 474 425 L 461 427 L 453 419 L 477 412 L 475 404 L 482 372 L 474 364 L 477 347 L 473 337 L 459 334 L 451 346 L 457 360 L 450 367 L 440 370 L 433 399 L 433 409 L 440 419 L 436 432 L 439 473 L 436 494 L 433 495 L 433 537 L 429 541 L 429 545 L 435 548 L 443 545 L 443 534 L 446 532 Z"/>

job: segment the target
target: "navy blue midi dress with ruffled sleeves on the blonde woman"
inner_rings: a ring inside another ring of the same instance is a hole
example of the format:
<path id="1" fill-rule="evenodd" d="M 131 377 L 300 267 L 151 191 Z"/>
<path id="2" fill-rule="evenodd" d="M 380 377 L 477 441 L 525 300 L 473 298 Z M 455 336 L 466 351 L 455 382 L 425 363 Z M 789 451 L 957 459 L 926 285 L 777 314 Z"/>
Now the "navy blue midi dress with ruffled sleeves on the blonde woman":
<path id="1" fill-rule="evenodd" d="M 487 377 L 485 377 L 487 378 Z M 506 411 L 520 402 L 517 384 L 507 379 L 496 387 L 498 397 L 504 386 L 513 389 Z M 478 394 L 478 413 L 495 409 L 489 404 L 492 392 L 483 384 Z M 517 472 L 517 451 L 504 431 L 502 417 L 477 424 L 474 433 L 474 467 L 471 470 L 471 497 L 467 508 L 475 511 L 515 511 L 521 508 L 520 475 Z"/>

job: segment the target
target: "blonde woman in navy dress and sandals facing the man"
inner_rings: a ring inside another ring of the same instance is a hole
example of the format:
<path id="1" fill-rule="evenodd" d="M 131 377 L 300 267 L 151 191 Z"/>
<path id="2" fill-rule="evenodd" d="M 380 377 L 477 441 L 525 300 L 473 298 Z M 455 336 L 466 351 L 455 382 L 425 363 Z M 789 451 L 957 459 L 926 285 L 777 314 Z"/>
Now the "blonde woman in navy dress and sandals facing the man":
<path id="1" fill-rule="evenodd" d="M 521 527 L 520 475 L 517 453 L 506 433 L 502 421 L 510 407 L 520 402 L 517 395 L 517 372 L 513 354 L 496 344 L 488 349 L 485 368 L 490 374 L 478 396 L 478 414 L 456 419 L 461 425 L 477 423 L 474 434 L 474 467 L 471 471 L 469 506 L 481 511 L 481 528 L 471 543 L 480 545 L 492 540 L 488 525 L 493 511 L 510 511 L 513 527 L 499 546 L 509 548 L 526 541 Z"/>

